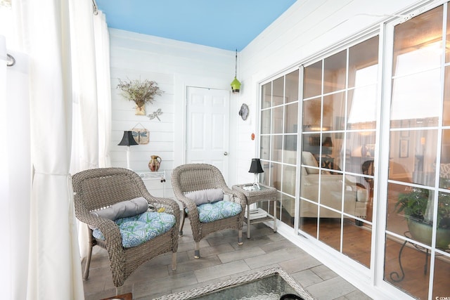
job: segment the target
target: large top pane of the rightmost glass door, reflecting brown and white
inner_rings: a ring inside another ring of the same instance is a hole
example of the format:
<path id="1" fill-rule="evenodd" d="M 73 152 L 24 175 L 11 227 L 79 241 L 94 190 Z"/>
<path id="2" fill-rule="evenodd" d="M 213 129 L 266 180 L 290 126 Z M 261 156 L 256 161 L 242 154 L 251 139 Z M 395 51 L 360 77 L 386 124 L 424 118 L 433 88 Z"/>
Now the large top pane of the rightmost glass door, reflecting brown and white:
<path id="1" fill-rule="evenodd" d="M 441 53 L 442 6 L 395 26 L 392 65 L 395 77 L 439 68 Z"/>

